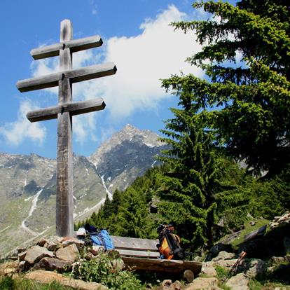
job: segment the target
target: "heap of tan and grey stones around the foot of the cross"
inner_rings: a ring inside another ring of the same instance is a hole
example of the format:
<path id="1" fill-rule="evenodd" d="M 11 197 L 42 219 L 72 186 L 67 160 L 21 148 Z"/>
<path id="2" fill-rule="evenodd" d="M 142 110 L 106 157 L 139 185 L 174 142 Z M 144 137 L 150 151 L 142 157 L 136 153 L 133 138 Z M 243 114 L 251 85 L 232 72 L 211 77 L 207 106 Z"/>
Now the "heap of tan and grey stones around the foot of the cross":
<path id="1" fill-rule="evenodd" d="M 41 283 L 56 280 L 60 284 L 75 289 L 107 290 L 108 288 L 102 284 L 83 282 L 60 274 L 64 271 L 72 271 L 82 260 L 96 258 L 99 251 L 104 251 L 104 247 L 85 247 L 85 243 L 75 237 L 41 238 L 36 245 L 29 249 L 18 248 L 18 255 L 14 262 L 0 265 L 0 275 L 17 277 L 23 272 L 24 277 Z M 122 268 L 119 260 L 116 260 L 116 267 L 118 263 L 118 268 Z M 125 265 L 123 265 L 123 268 L 125 268 Z"/>

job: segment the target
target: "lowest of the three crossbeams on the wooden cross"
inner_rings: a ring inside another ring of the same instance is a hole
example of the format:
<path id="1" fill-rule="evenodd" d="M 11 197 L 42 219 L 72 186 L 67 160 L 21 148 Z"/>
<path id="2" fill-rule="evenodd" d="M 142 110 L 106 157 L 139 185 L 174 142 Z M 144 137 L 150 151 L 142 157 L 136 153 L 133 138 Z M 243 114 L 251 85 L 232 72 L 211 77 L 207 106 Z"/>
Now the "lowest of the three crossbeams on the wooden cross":
<path id="1" fill-rule="evenodd" d="M 30 122 L 38 122 L 42 120 L 56 119 L 58 113 L 70 112 L 71 116 L 76 116 L 81 113 L 104 110 L 105 106 L 106 104 L 102 98 L 90 99 L 88 101 L 61 104 L 58 106 L 50 106 L 46 109 L 30 111 L 26 116 Z"/>

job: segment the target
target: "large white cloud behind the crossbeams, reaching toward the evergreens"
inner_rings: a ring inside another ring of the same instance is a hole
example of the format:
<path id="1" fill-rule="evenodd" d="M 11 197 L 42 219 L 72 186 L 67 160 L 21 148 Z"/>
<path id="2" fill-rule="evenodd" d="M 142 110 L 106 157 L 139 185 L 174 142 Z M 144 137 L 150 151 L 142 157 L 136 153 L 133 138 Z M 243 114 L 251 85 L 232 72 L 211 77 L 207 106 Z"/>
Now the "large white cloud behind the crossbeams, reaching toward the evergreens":
<path id="1" fill-rule="evenodd" d="M 93 4 L 93 1 L 92 1 Z M 115 76 L 107 76 L 93 81 L 76 83 L 73 86 L 74 101 L 103 97 L 106 102 L 106 121 L 109 125 L 130 116 L 134 111 L 152 110 L 168 97 L 160 88 L 160 78 L 171 74 L 193 73 L 203 76 L 197 67 L 190 66 L 184 60 L 200 50 L 193 33 L 184 34 L 169 26 L 170 22 L 185 20 L 186 13 L 175 6 L 158 14 L 154 19 L 146 19 L 141 25 L 141 33 L 132 37 L 112 37 L 104 39 L 103 50 L 85 50 L 74 54 L 74 67 L 99 62 L 114 62 L 118 71 Z M 41 60 L 32 66 L 34 76 L 57 71 L 57 60 Z M 57 93 L 56 88 L 48 89 Z M 97 124 L 98 113 L 78 116 L 74 122 L 74 134 L 77 141 L 88 139 Z M 76 118 L 76 117 L 74 117 Z M 92 130 L 87 130 L 87 128 Z M 94 136 L 91 135 L 90 139 Z"/>

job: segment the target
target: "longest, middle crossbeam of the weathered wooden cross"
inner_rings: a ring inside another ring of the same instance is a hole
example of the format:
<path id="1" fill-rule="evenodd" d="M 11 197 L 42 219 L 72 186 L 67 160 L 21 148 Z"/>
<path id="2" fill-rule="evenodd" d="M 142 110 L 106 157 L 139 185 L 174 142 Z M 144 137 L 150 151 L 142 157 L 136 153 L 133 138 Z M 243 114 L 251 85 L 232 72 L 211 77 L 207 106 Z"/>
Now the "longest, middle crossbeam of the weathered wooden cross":
<path id="1" fill-rule="evenodd" d="M 68 71 L 60 71 L 47 76 L 39 76 L 37 78 L 27 78 L 16 83 L 16 87 L 20 92 L 29 92 L 30 90 L 41 90 L 43 88 L 51 88 L 58 85 L 58 81 L 69 79 L 71 83 L 79 81 L 88 81 L 92 78 L 101 78 L 102 76 L 111 76 L 116 74 L 117 68 L 113 62 L 106 64 L 97 64 L 81 69 L 70 69 Z"/>

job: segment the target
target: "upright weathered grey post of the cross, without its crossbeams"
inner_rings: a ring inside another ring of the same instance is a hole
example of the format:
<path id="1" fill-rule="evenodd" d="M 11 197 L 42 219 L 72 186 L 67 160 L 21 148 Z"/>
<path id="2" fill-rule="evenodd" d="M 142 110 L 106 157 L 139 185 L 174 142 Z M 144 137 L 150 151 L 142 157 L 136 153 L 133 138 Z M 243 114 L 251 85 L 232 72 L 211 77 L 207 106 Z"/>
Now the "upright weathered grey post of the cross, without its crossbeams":
<path id="1" fill-rule="evenodd" d="M 70 20 L 60 24 L 60 42 L 72 39 Z M 60 71 L 72 69 L 72 55 L 69 48 L 63 45 L 60 50 Z M 71 103 L 71 82 L 62 74 L 59 80 L 59 104 Z M 73 171 L 72 171 L 72 118 L 69 112 L 57 115 L 57 200 L 56 200 L 56 233 L 64 237 L 74 235 L 73 205 Z"/>

